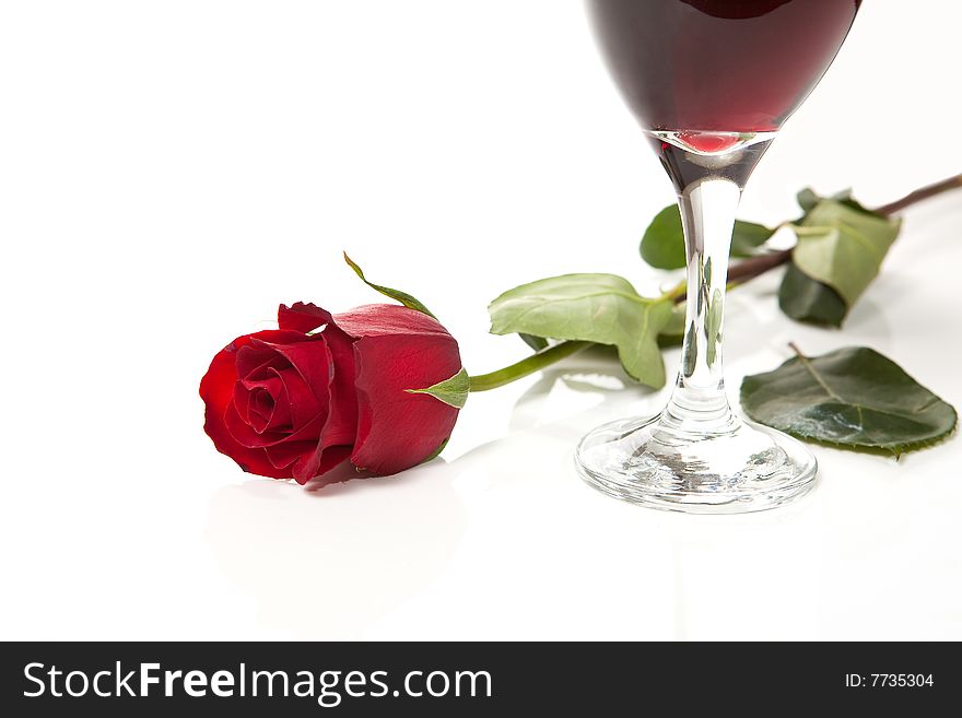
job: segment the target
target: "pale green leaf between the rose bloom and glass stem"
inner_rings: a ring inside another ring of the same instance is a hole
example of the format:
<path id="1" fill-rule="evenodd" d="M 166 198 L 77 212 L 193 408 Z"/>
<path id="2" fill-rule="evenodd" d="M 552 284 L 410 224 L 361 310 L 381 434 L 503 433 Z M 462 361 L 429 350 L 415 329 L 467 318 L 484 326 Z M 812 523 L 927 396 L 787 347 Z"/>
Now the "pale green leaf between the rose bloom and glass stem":
<path id="1" fill-rule="evenodd" d="M 625 372 L 642 384 L 665 386 L 658 334 L 671 302 L 647 299 L 613 274 L 566 274 L 505 292 L 488 308 L 491 333 L 589 341 L 618 348 Z"/>

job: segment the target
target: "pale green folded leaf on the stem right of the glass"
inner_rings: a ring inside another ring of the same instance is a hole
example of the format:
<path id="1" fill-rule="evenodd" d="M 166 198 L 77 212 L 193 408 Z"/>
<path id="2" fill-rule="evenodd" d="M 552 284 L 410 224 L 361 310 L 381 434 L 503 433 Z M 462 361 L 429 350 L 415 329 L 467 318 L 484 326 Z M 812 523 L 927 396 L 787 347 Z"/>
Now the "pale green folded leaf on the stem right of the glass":
<path id="1" fill-rule="evenodd" d="M 901 221 L 822 200 L 795 227 L 793 261 L 850 307 L 879 273 L 901 228 Z"/>

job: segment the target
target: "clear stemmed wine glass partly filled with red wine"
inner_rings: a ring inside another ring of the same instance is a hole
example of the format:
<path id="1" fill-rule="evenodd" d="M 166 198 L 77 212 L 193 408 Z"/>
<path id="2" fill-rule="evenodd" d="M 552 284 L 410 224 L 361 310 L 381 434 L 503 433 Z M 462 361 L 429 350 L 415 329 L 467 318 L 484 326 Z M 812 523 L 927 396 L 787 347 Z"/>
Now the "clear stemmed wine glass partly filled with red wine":
<path id="1" fill-rule="evenodd" d="M 586 0 L 608 67 L 678 191 L 688 301 L 666 409 L 589 433 L 585 481 L 629 502 L 700 514 L 779 506 L 814 485 L 794 438 L 739 419 L 722 372 L 735 214 L 782 123 L 812 91 L 860 0 Z"/>

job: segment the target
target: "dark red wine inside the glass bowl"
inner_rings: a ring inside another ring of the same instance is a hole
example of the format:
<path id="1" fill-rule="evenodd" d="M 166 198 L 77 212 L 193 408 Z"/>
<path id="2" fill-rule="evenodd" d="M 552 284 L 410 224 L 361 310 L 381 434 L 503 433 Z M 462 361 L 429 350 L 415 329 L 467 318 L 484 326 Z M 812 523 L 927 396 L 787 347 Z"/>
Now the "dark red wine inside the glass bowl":
<path id="1" fill-rule="evenodd" d="M 588 0 L 588 9 L 614 80 L 646 129 L 747 133 L 777 130 L 795 111 L 859 3 Z M 711 152 L 725 140 L 706 134 L 700 142 Z"/>

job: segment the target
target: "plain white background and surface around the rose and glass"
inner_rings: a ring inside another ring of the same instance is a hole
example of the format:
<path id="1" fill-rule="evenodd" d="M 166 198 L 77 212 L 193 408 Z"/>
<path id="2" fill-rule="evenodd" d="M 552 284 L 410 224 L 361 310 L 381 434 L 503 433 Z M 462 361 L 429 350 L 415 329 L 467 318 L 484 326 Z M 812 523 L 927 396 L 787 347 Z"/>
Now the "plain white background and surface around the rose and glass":
<path id="1" fill-rule="evenodd" d="M 742 215 L 962 170 L 960 23 L 864 3 Z M 671 200 L 574 0 L 0 3 L 0 636 L 962 638 L 958 440 L 816 449 L 809 498 L 690 517 L 577 478 L 584 432 L 665 400 L 591 356 L 472 397 L 443 460 L 315 493 L 201 429 L 211 356 L 278 303 L 377 301 L 341 249 L 481 373 L 526 351 L 486 333 L 506 289 L 674 279 L 636 248 Z M 794 340 L 962 405 L 960 233 L 960 195 L 912 210 L 842 332 L 781 316 L 776 278 L 735 292 L 732 392 Z"/>

